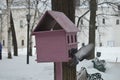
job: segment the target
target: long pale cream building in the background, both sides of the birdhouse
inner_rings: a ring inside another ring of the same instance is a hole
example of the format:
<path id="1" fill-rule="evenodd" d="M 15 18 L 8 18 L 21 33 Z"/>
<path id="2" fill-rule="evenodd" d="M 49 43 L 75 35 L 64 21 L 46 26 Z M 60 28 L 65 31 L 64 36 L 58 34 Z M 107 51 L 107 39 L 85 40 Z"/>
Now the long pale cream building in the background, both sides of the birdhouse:
<path id="1" fill-rule="evenodd" d="M 17 2 L 20 0 L 17 0 Z M 17 4 L 15 2 L 15 4 Z M 22 2 L 23 3 L 23 2 Z M 22 4 L 21 3 L 21 4 Z M 18 6 L 18 5 L 13 6 Z M 47 4 L 47 3 L 46 3 Z M 44 4 L 45 5 L 45 4 Z M 21 6 L 19 4 L 19 6 Z M 42 7 L 43 5 L 39 6 L 40 11 L 45 11 Z M 46 5 L 45 5 L 46 6 Z M 49 8 L 51 6 L 48 6 Z M 35 9 L 31 9 L 31 24 L 33 21 L 33 14 Z M 77 7 L 76 8 L 76 24 L 77 19 L 81 15 L 83 15 L 86 11 L 88 11 L 88 7 Z M 17 43 L 18 48 L 24 48 L 27 46 L 27 21 L 26 21 L 26 15 L 28 13 L 28 9 L 26 7 L 17 7 L 12 8 L 12 14 L 14 19 L 14 26 L 16 30 L 16 36 L 17 36 Z M 0 13 L 1 14 L 1 13 Z M 87 44 L 88 43 L 88 30 L 89 30 L 89 12 L 81 18 L 79 29 L 80 32 L 78 33 L 78 41 L 79 45 L 82 43 Z M 40 17 L 38 17 L 39 20 Z M 2 10 L 2 15 L 0 16 L 0 30 L 2 30 L 2 33 L 0 34 L 0 40 L 3 44 L 3 47 L 7 48 L 8 43 L 8 33 L 7 33 L 7 13 L 6 9 Z M 117 47 L 120 46 L 120 15 L 119 10 L 117 6 L 111 7 L 104 5 L 99 6 L 97 10 L 97 18 L 96 18 L 96 46 L 99 46 L 100 44 L 102 46 L 106 47 Z M 2 36 L 1 36 L 2 35 Z M 34 39 L 33 39 L 34 40 Z M 35 41 L 33 41 L 34 43 Z"/>

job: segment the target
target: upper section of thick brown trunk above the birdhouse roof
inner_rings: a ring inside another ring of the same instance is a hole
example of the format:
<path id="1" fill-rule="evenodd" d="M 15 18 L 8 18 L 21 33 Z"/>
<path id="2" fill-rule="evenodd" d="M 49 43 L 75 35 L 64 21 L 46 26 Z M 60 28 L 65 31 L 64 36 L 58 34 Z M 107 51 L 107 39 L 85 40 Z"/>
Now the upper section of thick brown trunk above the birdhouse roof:
<path id="1" fill-rule="evenodd" d="M 52 10 L 65 13 L 75 23 L 75 0 L 52 0 Z"/>

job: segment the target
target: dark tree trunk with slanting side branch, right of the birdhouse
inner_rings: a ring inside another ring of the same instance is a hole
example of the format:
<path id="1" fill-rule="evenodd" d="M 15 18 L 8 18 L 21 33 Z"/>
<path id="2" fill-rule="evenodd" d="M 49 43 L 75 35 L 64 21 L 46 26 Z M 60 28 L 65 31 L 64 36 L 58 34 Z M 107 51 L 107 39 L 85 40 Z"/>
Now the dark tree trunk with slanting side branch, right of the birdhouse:
<path id="1" fill-rule="evenodd" d="M 90 20 L 89 20 L 89 44 L 92 43 L 95 45 L 95 30 L 96 30 L 96 10 L 97 10 L 97 1 L 96 0 L 83 0 L 82 5 L 85 5 L 85 2 L 89 2 L 87 6 L 89 5 L 89 9 L 78 18 L 77 27 L 79 26 L 80 19 L 83 18 L 88 12 L 90 12 Z M 91 50 L 91 55 L 88 55 L 87 59 L 94 58 L 95 54 L 95 47 Z"/>

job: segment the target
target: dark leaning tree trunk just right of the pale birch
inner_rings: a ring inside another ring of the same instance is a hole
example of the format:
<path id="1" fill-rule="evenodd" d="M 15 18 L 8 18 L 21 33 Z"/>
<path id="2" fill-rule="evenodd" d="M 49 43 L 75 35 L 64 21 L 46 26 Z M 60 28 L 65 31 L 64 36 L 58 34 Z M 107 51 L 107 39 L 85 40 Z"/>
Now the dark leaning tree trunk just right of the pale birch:
<path id="1" fill-rule="evenodd" d="M 13 22 L 13 17 L 12 17 L 11 11 L 10 11 L 10 26 L 11 26 L 11 31 L 12 31 L 14 56 L 18 56 L 17 39 L 16 39 L 15 27 L 14 27 L 14 22 Z"/>

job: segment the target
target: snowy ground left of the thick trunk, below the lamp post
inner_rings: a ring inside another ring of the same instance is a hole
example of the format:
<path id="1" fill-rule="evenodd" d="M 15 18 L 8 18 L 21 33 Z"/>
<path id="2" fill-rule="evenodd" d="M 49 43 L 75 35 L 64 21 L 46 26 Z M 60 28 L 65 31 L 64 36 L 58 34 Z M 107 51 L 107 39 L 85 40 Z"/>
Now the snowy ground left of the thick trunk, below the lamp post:
<path id="1" fill-rule="evenodd" d="M 19 56 L 13 59 L 7 59 L 4 53 L 0 60 L 0 80 L 54 80 L 53 63 L 37 63 L 34 55 L 26 64 L 25 51 L 19 50 Z"/>

